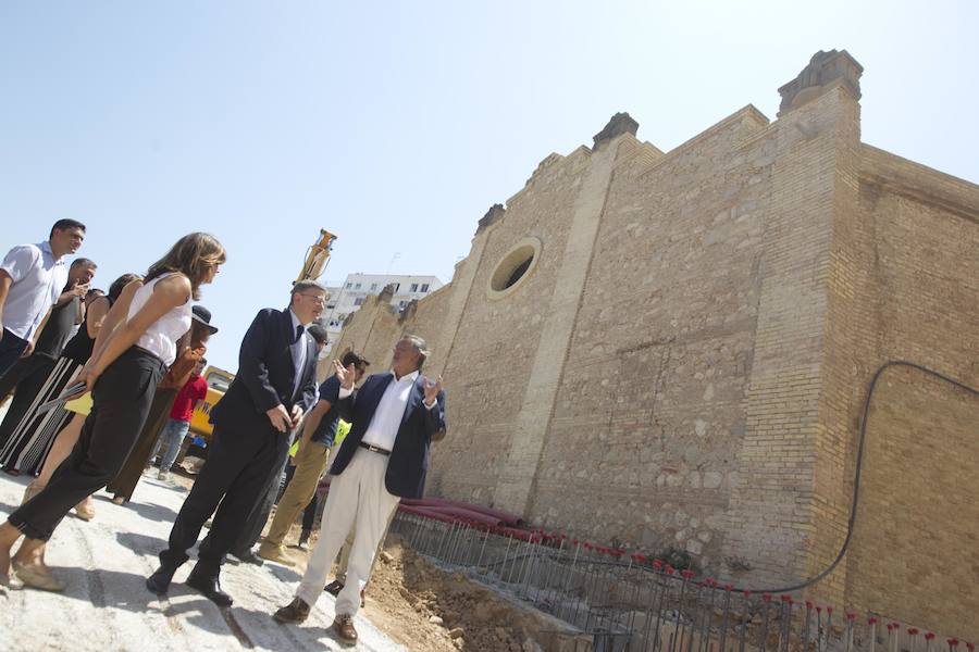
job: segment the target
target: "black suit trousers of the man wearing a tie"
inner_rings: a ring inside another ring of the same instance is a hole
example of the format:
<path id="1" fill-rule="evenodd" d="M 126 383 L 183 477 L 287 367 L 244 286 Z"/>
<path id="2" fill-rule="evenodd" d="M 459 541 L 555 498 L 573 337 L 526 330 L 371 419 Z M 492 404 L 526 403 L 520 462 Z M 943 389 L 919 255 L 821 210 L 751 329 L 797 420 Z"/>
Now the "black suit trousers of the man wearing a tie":
<path id="1" fill-rule="evenodd" d="M 208 460 L 177 514 L 160 563 L 179 566 L 186 562 L 205 522 L 218 510 L 194 569 L 216 575 L 288 449 L 288 434 L 277 431 L 271 423 L 241 431 L 215 426 Z"/>

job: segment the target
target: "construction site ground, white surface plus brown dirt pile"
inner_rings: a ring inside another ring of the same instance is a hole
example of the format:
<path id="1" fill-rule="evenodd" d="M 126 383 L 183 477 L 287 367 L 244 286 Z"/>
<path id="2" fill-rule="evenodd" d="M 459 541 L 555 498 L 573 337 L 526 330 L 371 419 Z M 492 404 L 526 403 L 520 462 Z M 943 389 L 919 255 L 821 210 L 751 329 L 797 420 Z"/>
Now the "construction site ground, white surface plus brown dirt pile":
<path id="1" fill-rule="evenodd" d="M 0 517 L 20 503 L 29 478 L 0 474 Z M 49 593 L 0 588 L 0 650 L 347 650 L 330 630 L 334 600 L 324 593 L 310 618 L 284 626 L 271 614 L 286 604 L 303 570 L 227 564 L 222 586 L 235 603 L 221 610 L 177 573 L 164 598 L 144 582 L 157 565 L 190 480 L 145 476 L 134 501 L 96 496 L 96 517 L 64 519 L 47 560 L 67 588 Z M 290 541 L 295 541 L 295 535 Z M 387 652 L 533 652 L 553 627 L 546 617 L 446 573 L 392 537 L 374 568 L 367 606 L 357 617 L 358 650 Z"/>

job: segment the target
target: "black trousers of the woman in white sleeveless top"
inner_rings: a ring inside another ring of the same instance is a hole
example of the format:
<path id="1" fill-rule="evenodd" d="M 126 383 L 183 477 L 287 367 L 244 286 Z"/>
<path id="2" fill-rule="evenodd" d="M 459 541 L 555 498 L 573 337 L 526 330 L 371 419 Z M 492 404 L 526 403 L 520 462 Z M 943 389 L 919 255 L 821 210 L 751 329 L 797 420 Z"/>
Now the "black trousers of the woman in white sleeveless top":
<path id="1" fill-rule="evenodd" d="M 109 365 L 91 392 L 91 413 L 71 455 L 40 493 L 10 515 L 11 525 L 47 541 L 73 506 L 115 477 L 142 429 L 163 372 L 158 358 L 136 347 Z"/>

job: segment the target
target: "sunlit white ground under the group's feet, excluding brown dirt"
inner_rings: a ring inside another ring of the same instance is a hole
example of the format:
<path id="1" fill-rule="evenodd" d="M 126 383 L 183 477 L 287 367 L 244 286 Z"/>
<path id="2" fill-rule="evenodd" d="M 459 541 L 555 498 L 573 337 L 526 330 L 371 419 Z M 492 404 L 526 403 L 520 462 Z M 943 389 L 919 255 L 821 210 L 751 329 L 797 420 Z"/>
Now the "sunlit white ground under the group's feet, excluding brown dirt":
<path id="1" fill-rule="evenodd" d="M 27 481 L 0 473 L 0 519 L 20 504 Z M 193 559 L 177 572 L 169 595 L 150 593 L 144 582 L 186 496 L 183 488 L 145 476 L 127 506 L 116 506 L 99 492 L 94 521 L 69 515 L 47 554 L 66 590 L 0 588 L 0 651 L 351 649 L 330 630 L 334 599 L 329 593 L 300 626 L 272 619 L 272 612 L 292 600 L 299 580 L 295 570 L 276 564 L 226 564 L 222 587 L 235 599 L 228 610 L 183 584 Z M 357 650 L 405 650 L 363 617 L 355 624 Z"/>

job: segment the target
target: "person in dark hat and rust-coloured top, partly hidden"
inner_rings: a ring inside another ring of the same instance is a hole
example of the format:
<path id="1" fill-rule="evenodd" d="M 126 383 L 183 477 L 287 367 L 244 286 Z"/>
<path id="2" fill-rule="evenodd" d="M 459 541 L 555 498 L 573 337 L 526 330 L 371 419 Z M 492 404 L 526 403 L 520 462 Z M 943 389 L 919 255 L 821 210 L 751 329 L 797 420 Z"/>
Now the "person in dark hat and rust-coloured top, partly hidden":
<path id="1" fill-rule="evenodd" d="M 197 363 L 203 359 L 208 338 L 218 333 L 218 329 L 211 325 L 211 311 L 203 305 L 195 305 L 190 318 L 190 330 L 181 342 L 182 346 L 178 347 L 181 353 L 176 361 L 157 386 L 157 393 L 153 396 L 153 403 L 139 438 L 133 446 L 133 450 L 129 451 L 129 456 L 126 457 L 126 463 L 123 464 L 115 479 L 106 487 L 107 491 L 114 493 L 112 502 L 117 505 L 124 504 L 133 498 L 136 485 L 139 484 L 139 478 L 142 477 L 150 455 L 157 448 L 157 440 L 170 422 L 170 414 L 181 388 L 190 379 Z"/>

